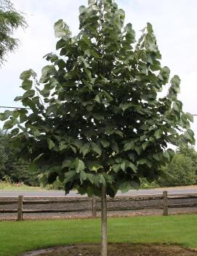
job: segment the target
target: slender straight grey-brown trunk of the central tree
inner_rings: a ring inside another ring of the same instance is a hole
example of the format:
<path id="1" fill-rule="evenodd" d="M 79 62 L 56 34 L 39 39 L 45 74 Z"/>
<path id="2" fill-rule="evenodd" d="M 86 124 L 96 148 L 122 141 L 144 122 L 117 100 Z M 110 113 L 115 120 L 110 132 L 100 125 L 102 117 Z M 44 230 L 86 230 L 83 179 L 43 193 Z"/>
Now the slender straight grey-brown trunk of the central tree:
<path id="1" fill-rule="evenodd" d="M 101 256 L 108 255 L 108 225 L 106 187 L 102 184 L 101 191 Z"/>

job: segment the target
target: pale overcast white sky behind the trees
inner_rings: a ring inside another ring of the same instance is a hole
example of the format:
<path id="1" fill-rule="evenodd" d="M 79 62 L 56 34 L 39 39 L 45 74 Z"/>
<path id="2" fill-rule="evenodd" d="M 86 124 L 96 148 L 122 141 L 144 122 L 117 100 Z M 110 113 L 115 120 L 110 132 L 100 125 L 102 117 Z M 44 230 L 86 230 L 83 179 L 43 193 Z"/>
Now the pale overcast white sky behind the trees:
<path id="1" fill-rule="evenodd" d="M 179 99 L 185 112 L 197 114 L 197 1 L 196 0 L 117 0 L 126 12 L 126 23 L 140 30 L 150 22 L 156 34 L 162 65 L 169 66 L 172 76 L 181 79 Z M 15 37 L 20 45 L 7 56 L 0 69 L 0 106 L 20 106 L 14 98 L 22 95 L 20 73 L 33 69 L 37 74 L 47 65 L 43 56 L 55 52 L 57 39 L 53 25 L 60 18 L 78 33 L 79 6 L 87 0 L 12 0 L 25 14 L 28 28 L 19 29 Z M 0 109 L 1 112 L 2 109 Z M 197 117 L 192 124 L 197 140 Z M 197 148 L 197 147 L 196 147 Z"/>

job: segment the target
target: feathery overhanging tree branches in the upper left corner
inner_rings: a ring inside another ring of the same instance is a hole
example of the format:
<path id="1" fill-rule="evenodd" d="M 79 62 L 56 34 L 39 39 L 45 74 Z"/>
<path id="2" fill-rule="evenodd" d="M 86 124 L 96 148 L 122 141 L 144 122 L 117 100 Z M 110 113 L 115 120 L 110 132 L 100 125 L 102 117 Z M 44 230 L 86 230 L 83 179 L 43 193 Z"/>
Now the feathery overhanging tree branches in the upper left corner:
<path id="1" fill-rule="evenodd" d="M 12 37 L 15 29 L 26 25 L 23 14 L 17 12 L 9 0 L 0 0 L 0 66 L 7 53 L 13 52 L 18 45 L 18 39 Z"/>

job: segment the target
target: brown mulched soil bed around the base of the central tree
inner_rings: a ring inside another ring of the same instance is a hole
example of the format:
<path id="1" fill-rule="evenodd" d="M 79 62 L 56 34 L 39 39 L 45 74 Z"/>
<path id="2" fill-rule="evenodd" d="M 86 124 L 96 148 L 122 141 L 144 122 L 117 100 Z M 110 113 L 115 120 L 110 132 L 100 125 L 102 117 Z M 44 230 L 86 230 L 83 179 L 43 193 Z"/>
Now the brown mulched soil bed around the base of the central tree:
<path id="1" fill-rule="evenodd" d="M 54 247 L 23 256 L 100 256 L 100 244 Z M 108 256 L 197 256 L 197 251 L 177 245 L 108 244 Z"/>

